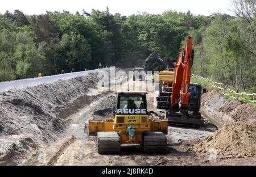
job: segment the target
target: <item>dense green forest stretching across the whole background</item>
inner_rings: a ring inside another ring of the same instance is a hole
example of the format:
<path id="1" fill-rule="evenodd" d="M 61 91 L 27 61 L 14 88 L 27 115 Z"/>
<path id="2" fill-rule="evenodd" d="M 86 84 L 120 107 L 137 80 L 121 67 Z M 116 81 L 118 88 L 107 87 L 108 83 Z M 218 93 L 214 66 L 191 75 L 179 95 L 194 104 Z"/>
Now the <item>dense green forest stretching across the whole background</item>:
<path id="1" fill-rule="evenodd" d="M 236 91 L 256 91 L 256 5 L 233 0 L 236 15 L 193 15 L 165 11 L 122 16 L 92 10 L 26 15 L 0 14 L 0 81 L 82 71 L 102 66 L 142 66 L 152 53 L 171 64 L 194 39 L 193 73 Z M 156 70 L 164 67 L 152 62 Z"/>

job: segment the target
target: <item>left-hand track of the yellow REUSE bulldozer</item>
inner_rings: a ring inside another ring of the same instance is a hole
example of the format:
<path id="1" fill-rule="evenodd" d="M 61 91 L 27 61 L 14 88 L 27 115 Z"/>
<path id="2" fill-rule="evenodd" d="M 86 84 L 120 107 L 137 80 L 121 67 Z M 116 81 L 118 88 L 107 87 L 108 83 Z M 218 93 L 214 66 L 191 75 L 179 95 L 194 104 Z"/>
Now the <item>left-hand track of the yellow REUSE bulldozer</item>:
<path id="1" fill-rule="evenodd" d="M 121 136 L 119 132 L 98 132 L 97 149 L 99 154 L 119 154 Z"/>

